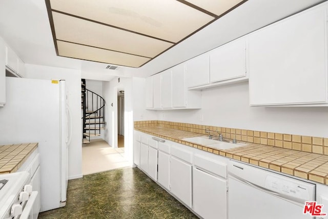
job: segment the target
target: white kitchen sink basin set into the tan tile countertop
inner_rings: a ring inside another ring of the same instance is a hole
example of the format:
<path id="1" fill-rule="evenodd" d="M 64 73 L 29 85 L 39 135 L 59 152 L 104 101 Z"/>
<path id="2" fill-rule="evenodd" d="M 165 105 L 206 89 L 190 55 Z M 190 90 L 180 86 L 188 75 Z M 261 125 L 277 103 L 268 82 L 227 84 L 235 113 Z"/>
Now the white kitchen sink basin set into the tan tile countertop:
<path id="1" fill-rule="evenodd" d="M 233 144 L 232 142 L 219 142 L 217 140 L 209 139 L 209 137 L 207 136 L 189 137 L 189 138 L 183 138 L 182 140 L 187 142 L 192 142 L 194 144 L 205 145 L 211 148 L 217 148 L 219 150 L 232 149 L 232 148 L 237 148 L 247 145 L 242 143 Z"/>

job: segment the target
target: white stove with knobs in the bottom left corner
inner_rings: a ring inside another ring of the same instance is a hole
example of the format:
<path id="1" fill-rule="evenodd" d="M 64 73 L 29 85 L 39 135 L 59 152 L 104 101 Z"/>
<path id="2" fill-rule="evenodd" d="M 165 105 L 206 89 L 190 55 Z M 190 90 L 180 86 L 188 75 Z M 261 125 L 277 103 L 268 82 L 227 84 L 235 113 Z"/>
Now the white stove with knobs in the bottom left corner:
<path id="1" fill-rule="evenodd" d="M 31 206 L 37 196 L 28 185 L 28 172 L 15 172 L 0 175 L 0 218 L 29 218 Z"/>

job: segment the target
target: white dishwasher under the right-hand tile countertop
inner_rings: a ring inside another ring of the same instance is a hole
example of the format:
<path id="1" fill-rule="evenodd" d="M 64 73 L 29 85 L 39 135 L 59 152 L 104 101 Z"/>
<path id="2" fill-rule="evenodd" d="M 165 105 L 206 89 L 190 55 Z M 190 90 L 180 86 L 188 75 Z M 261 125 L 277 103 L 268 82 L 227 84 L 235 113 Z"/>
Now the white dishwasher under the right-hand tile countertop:
<path id="1" fill-rule="evenodd" d="M 316 185 L 244 163 L 229 161 L 229 219 L 301 219 Z"/>

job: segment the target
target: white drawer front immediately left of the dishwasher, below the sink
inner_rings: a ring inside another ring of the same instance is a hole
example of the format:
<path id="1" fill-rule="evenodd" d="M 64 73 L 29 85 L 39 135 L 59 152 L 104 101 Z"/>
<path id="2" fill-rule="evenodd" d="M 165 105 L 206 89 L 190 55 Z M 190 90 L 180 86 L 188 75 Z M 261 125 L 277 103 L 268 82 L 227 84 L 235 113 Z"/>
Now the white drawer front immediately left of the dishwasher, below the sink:
<path id="1" fill-rule="evenodd" d="M 223 164 L 207 157 L 195 155 L 194 165 L 215 175 L 227 178 L 227 164 Z"/>

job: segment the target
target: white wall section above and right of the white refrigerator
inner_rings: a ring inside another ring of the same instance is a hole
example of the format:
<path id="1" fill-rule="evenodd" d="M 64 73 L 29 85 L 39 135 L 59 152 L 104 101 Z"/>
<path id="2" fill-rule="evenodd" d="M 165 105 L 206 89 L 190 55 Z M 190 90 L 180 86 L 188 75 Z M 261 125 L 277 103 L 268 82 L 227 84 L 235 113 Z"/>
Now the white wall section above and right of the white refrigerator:
<path id="1" fill-rule="evenodd" d="M 66 80 L 68 103 L 72 113 L 72 141 L 69 146 L 69 179 L 82 177 L 82 136 L 81 136 L 81 72 L 75 69 L 56 68 L 26 64 L 26 77 L 37 79 L 61 78 Z"/>

